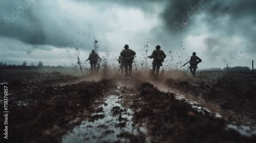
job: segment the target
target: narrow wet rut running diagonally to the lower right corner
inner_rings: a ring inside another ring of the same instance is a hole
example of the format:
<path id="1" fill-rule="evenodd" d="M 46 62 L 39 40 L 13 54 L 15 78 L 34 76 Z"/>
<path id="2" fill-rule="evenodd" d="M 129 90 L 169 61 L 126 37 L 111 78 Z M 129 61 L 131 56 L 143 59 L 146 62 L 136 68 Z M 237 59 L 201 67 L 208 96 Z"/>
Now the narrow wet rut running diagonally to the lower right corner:
<path id="1" fill-rule="evenodd" d="M 191 96 L 190 94 L 186 94 L 180 91 L 172 91 L 173 89 L 167 86 L 159 86 L 161 91 L 164 92 L 174 92 L 175 98 L 177 100 L 184 100 L 186 103 L 190 104 L 194 109 L 199 112 L 202 112 L 205 115 L 211 115 L 216 118 L 224 118 L 227 122 L 226 129 L 227 130 L 236 130 L 243 136 L 250 137 L 252 135 L 256 135 L 256 125 L 254 121 L 251 119 L 240 115 L 237 115 L 229 110 L 223 110 L 221 107 L 207 103 L 204 100 Z"/>

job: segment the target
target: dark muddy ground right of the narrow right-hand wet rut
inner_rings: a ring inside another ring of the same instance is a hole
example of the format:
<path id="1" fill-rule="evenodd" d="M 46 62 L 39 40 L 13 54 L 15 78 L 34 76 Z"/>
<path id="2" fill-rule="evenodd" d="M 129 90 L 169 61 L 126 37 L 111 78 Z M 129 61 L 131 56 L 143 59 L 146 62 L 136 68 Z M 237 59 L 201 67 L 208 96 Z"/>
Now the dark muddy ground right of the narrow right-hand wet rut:
<path id="1" fill-rule="evenodd" d="M 218 74 L 200 75 L 193 79 L 167 79 L 166 84 L 242 117 L 249 117 L 256 123 L 256 75 Z"/>

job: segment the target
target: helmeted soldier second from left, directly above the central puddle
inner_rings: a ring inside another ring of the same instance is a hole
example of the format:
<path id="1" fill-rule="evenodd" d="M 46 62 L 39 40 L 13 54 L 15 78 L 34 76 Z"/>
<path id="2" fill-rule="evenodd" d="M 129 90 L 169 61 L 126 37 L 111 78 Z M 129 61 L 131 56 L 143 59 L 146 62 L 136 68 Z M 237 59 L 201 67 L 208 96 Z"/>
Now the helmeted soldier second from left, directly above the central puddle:
<path id="1" fill-rule="evenodd" d="M 121 51 L 120 55 L 123 57 L 123 66 L 124 66 L 124 71 L 125 71 L 125 76 L 128 76 L 132 74 L 132 63 L 133 63 L 133 59 L 134 56 L 136 55 L 136 53 L 131 50 L 128 49 L 129 45 L 125 44 L 124 45 L 124 50 Z M 129 66 L 129 74 L 128 74 L 128 66 Z"/>

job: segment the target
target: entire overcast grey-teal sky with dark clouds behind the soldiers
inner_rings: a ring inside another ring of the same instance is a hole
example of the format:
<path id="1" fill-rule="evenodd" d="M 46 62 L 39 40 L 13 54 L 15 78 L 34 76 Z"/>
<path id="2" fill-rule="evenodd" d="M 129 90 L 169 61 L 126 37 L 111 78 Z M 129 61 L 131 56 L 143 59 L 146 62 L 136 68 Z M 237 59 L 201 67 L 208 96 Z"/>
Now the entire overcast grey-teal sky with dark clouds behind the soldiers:
<path id="1" fill-rule="evenodd" d="M 22 3 L 23 2 L 23 3 Z M 0 1 L 0 61 L 76 64 L 94 50 L 113 61 L 124 44 L 150 63 L 160 45 L 164 66 L 179 68 L 191 53 L 199 68 L 249 66 L 256 60 L 256 1 L 159 0 Z M 107 55 L 108 53 L 108 55 Z"/>

